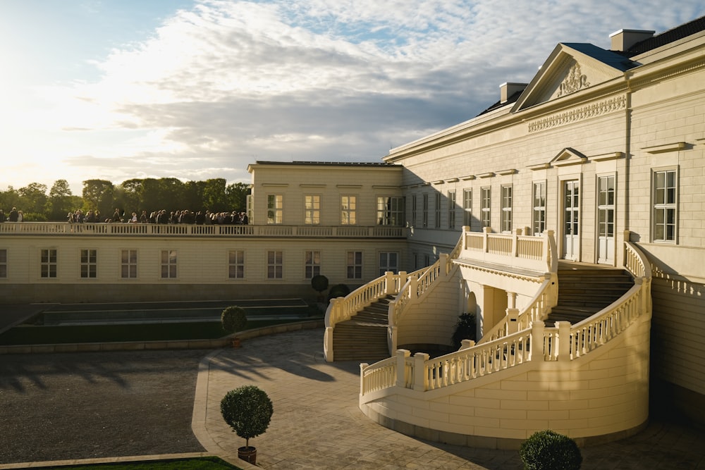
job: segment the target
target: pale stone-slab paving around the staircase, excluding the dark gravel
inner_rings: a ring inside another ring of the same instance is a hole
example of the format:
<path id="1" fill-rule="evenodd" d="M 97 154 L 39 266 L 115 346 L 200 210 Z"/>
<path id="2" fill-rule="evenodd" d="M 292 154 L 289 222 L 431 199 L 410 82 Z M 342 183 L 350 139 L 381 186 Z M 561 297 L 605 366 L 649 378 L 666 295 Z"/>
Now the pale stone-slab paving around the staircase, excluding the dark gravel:
<path id="1" fill-rule="evenodd" d="M 237 448 L 245 441 L 223 421 L 220 400 L 255 384 L 274 402 L 268 430 L 250 440 L 264 469 L 522 469 L 516 451 L 425 442 L 370 421 L 357 408 L 359 364 L 326 363 L 322 344 L 322 330 L 302 330 L 209 354 L 192 421 L 200 443 L 242 462 Z M 657 421 L 632 438 L 582 449 L 582 469 L 705 469 L 703 443 L 705 431 Z"/>

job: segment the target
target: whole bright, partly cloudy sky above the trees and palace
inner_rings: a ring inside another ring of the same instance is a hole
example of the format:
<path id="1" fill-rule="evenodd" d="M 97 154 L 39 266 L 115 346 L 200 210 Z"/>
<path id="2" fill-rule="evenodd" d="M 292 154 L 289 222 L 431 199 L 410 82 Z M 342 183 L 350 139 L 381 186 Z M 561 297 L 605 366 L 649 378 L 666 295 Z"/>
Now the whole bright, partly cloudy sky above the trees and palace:
<path id="1" fill-rule="evenodd" d="M 376 161 L 701 0 L 0 0 L 0 190 Z"/>

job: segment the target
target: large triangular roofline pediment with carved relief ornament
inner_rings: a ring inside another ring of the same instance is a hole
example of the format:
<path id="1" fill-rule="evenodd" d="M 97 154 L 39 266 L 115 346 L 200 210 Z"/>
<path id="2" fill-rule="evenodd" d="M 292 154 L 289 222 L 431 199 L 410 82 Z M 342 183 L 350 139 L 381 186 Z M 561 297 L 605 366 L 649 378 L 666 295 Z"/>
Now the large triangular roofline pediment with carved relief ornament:
<path id="1" fill-rule="evenodd" d="M 592 44 L 558 44 L 512 111 L 581 92 L 621 77 L 625 70 L 637 65 L 624 56 Z"/>

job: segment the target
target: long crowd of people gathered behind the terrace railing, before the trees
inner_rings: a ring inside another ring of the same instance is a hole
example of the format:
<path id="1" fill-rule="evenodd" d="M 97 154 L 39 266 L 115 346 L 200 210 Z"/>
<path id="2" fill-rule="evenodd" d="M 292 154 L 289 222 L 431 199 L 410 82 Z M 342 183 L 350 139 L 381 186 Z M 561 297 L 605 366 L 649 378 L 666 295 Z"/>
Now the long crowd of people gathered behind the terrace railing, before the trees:
<path id="1" fill-rule="evenodd" d="M 97 210 L 90 210 L 84 214 L 82 209 L 78 209 L 69 212 L 66 215 L 66 221 L 70 223 L 195 223 L 196 225 L 247 225 L 250 223 L 245 212 L 193 212 L 188 209 L 168 213 L 162 209 L 161 211 L 152 211 L 150 214 L 147 214 L 147 211 L 142 211 L 140 215 L 133 212 L 130 216 L 125 216 L 125 211 L 115 209 L 113 215 L 107 218 L 102 218 L 100 211 Z"/>

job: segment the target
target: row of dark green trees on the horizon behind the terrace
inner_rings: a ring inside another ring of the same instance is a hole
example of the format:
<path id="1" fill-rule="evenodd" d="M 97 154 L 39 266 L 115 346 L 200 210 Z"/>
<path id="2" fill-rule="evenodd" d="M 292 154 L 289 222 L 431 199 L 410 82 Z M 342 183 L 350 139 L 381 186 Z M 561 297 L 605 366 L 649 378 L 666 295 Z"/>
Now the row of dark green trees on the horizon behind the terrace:
<path id="1" fill-rule="evenodd" d="M 114 185 L 107 180 L 86 180 L 80 196 L 74 195 L 66 180 L 56 180 L 51 189 L 30 183 L 16 190 L 0 190 L 0 209 L 7 215 L 13 207 L 23 211 L 24 221 L 66 221 L 69 211 L 98 210 L 105 216 L 116 208 L 125 214 L 142 211 L 245 211 L 250 187 L 245 183 L 226 184 L 223 178 L 187 181 L 177 178 L 135 178 Z"/>

